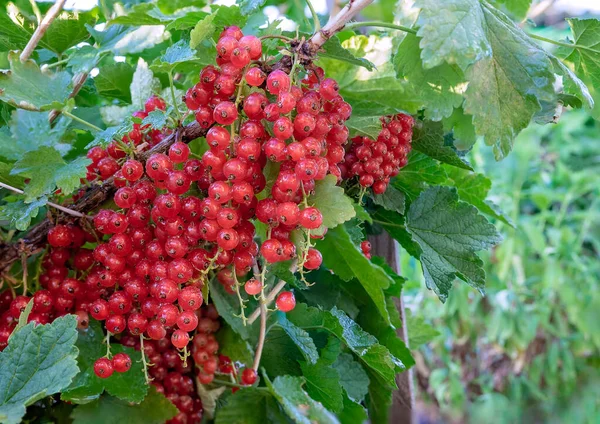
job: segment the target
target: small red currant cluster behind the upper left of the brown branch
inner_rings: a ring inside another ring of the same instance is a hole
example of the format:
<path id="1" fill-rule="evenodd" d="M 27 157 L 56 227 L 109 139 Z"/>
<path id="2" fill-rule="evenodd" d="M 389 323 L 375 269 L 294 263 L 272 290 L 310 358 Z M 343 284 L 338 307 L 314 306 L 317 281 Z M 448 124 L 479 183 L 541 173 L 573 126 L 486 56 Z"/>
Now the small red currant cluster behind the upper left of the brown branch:
<path id="1" fill-rule="evenodd" d="M 152 96 L 144 104 L 144 110 L 138 110 L 132 114 L 134 118 L 143 120 L 148 114 L 156 109 L 165 110 L 167 107 L 165 101 L 158 96 Z M 102 181 L 115 177 L 116 185 L 124 185 L 126 178 L 122 174 L 121 164 L 127 156 L 128 150 L 134 150 L 142 146 L 145 150 L 160 143 L 169 131 L 151 129 L 149 125 L 142 126 L 139 123 L 133 124 L 133 129 L 129 131 L 120 141 L 112 141 L 106 149 L 96 146 L 92 147 L 87 157 L 92 161 L 87 167 L 86 180 Z"/>

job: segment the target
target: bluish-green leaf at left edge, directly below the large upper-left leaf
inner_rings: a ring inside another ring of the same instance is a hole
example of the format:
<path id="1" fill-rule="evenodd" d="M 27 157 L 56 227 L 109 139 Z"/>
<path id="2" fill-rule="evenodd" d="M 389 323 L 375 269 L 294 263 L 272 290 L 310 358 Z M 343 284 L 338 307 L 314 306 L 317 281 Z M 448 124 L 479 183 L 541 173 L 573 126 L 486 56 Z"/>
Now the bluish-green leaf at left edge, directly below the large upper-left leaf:
<path id="1" fill-rule="evenodd" d="M 41 146 L 54 147 L 61 155 L 66 155 L 71 150 L 71 145 L 61 143 L 61 138 L 71 120 L 61 116 L 51 128 L 48 114 L 49 112 L 14 110 L 10 122 L 11 135 L 4 130 L 0 138 L 0 156 L 18 160 L 25 153 L 37 150 Z"/>

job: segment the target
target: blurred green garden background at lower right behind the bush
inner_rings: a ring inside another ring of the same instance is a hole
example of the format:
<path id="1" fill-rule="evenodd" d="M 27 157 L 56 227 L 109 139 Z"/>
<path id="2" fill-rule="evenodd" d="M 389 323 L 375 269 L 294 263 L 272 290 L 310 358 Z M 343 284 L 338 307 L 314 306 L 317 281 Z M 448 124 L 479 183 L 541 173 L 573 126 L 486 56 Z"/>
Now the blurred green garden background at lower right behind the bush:
<path id="1" fill-rule="evenodd" d="M 489 153 L 470 158 L 514 228 L 498 223 L 486 296 L 457 284 L 442 307 L 403 257 L 405 301 L 439 333 L 411 340 L 430 339 L 416 351 L 420 421 L 600 422 L 600 124 L 565 112 L 501 166 Z"/>

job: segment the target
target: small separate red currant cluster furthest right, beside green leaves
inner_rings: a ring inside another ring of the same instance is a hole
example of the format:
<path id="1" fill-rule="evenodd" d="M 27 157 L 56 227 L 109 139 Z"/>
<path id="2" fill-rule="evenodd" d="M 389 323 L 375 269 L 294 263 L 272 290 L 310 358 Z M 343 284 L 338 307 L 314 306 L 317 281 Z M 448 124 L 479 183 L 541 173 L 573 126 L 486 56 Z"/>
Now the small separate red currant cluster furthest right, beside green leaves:
<path id="1" fill-rule="evenodd" d="M 377 140 L 354 137 L 342 168 L 344 179 L 358 177 L 361 187 L 371 187 L 382 194 L 390 178 L 398 175 L 406 165 L 411 151 L 414 119 L 400 113 L 381 118 L 381 132 Z"/>

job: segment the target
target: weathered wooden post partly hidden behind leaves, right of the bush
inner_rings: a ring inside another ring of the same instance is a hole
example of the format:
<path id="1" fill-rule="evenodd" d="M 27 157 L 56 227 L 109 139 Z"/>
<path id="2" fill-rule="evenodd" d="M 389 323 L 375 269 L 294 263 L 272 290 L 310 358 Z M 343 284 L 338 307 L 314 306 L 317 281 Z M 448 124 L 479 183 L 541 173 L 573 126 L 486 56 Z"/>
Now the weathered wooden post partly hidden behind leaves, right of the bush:
<path id="1" fill-rule="evenodd" d="M 369 237 L 369 241 L 371 242 L 372 254 L 383 257 L 388 265 L 392 267 L 396 273 L 400 274 L 398 243 L 386 232 L 377 236 Z M 406 320 L 402 297 L 394 299 L 394 303 L 400 312 L 402 323 L 405 323 Z M 404 340 L 404 343 L 408 347 L 408 330 L 406 325 L 403 325 L 402 328 L 398 328 L 396 332 L 398 336 Z M 416 422 L 413 415 L 415 410 L 415 392 L 412 368 L 406 372 L 398 374 L 396 376 L 396 384 L 398 385 L 398 390 L 396 390 L 393 394 L 392 410 L 390 411 L 390 423 L 410 424 Z"/>

